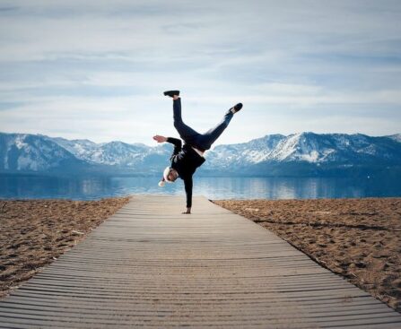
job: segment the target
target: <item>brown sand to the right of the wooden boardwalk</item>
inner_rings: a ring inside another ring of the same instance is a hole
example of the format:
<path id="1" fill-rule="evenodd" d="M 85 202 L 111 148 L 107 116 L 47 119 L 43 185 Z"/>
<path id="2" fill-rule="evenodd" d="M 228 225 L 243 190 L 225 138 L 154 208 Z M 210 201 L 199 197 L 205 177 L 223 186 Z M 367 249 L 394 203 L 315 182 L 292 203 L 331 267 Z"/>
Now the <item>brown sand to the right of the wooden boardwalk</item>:
<path id="1" fill-rule="evenodd" d="M 401 198 L 219 200 L 401 312 Z"/>

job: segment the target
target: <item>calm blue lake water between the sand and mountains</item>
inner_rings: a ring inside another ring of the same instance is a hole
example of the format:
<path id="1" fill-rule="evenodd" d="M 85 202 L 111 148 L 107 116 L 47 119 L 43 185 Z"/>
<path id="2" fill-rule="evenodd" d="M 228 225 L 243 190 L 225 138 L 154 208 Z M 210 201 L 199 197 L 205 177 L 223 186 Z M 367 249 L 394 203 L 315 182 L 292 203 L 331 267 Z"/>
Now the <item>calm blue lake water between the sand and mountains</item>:
<path id="1" fill-rule="evenodd" d="M 182 180 L 159 187 L 158 178 L 0 175 L 0 198 L 89 200 L 132 194 L 184 195 Z M 401 196 L 401 178 L 194 177 L 194 195 L 209 199 Z"/>

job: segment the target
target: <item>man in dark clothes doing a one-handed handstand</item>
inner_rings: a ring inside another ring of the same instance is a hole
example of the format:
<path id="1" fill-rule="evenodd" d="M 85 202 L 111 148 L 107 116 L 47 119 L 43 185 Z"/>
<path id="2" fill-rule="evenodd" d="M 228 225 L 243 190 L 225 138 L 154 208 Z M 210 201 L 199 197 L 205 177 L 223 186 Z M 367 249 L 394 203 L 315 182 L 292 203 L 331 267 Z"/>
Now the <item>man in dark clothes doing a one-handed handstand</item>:
<path id="1" fill-rule="evenodd" d="M 182 121 L 179 91 L 164 91 L 164 95 L 173 99 L 174 126 L 179 132 L 181 139 L 184 140 L 184 146 L 176 138 L 164 137 L 159 134 L 153 136 L 153 139 L 158 143 L 168 142 L 174 145 L 174 151 L 170 157 L 171 165 L 164 169 L 163 178 L 159 186 L 163 186 L 165 181 L 173 183 L 178 177 L 183 179 L 187 194 L 187 211 L 182 213 L 191 213 L 192 176 L 196 169 L 205 162 L 205 151 L 211 148 L 212 144 L 222 134 L 224 129 L 227 128 L 234 113 L 242 108 L 242 104 L 238 103 L 233 108 L 230 108 L 217 126 L 208 130 L 205 134 L 198 134 Z"/>

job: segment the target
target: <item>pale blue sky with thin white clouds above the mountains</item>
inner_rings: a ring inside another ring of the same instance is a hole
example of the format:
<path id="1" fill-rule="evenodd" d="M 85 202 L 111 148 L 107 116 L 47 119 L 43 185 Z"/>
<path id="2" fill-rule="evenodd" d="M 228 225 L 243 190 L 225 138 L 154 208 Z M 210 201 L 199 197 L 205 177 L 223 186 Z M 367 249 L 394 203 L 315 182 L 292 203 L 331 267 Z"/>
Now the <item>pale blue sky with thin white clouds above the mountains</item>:
<path id="1" fill-rule="evenodd" d="M 401 133 L 401 1 L 0 0 L 0 132 L 155 145 Z"/>

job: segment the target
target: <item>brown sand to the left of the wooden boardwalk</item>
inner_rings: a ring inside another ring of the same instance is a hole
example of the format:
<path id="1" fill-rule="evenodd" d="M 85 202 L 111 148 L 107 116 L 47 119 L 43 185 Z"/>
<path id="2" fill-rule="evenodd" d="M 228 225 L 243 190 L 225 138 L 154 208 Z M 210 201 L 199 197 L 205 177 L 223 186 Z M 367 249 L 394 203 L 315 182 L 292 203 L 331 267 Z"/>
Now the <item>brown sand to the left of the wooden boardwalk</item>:
<path id="1" fill-rule="evenodd" d="M 74 247 L 128 200 L 0 200 L 0 298 Z"/>

